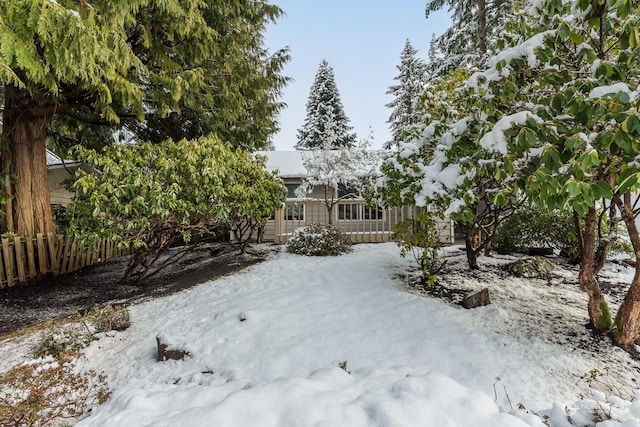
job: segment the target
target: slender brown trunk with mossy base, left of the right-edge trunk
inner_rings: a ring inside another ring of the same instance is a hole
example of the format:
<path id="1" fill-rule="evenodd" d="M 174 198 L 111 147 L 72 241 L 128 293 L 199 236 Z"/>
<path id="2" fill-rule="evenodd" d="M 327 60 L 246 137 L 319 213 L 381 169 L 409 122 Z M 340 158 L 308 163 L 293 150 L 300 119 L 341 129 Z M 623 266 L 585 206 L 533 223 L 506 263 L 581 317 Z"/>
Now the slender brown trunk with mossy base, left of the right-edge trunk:
<path id="1" fill-rule="evenodd" d="M 594 270 L 595 231 L 596 209 L 590 208 L 585 217 L 584 233 L 582 233 L 584 246 L 582 247 L 582 260 L 580 261 L 578 281 L 589 296 L 587 306 L 589 323 L 597 331 L 606 331 L 611 327 L 611 314 L 609 313 L 604 295 L 602 295 L 602 291 L 600 290 L 600 285 L 598 284 Z"/>

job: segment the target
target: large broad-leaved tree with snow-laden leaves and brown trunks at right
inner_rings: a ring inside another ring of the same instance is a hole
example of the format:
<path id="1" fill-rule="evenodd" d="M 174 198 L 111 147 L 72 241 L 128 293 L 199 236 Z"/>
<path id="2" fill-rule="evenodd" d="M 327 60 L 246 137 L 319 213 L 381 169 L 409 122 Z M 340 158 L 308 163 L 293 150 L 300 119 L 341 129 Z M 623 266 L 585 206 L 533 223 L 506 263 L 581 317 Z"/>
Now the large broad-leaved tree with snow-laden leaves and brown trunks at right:
<path id="1" fill-rule="evenodd" d="M 640 270 L 612 325 L 596 277 L 596 224 L 598 202 L 613 201 L 640 266 L 640 210 L 631 196 L 640 186 L 637 6 L 533 2 L 514 15 L 515 43 L 432 108 L 423 138 L 386 166 L 391 188 L 405 188 L 406 199 L 455 215 L 475 215 L 467 207 L 483 194 L 496 206 L 525 193 L 550 209 L 572 208 L 584 221 L 578 279 L 589 319 L 596 329 L 612 327 L 627 348 L 640 335 Z M 478 191 L 487 179 L 499 185 Z"/>

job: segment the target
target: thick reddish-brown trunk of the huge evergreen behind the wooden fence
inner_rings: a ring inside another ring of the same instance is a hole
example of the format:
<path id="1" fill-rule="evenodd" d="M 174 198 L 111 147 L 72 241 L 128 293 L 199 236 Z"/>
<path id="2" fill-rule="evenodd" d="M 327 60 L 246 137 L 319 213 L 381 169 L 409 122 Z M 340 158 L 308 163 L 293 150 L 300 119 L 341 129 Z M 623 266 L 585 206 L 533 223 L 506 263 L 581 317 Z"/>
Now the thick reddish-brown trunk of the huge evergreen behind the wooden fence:
<path id="1" fill-rule="evenodd" d="M 33 100 L 22 89 L 5 87 L 2 171 L 13 177 L 5 186 L 12 197 L 5 205 L 5 231 L 21 236 L 54 231 L 47 177 L 46 136 L 43 115 L 32 114 Z"/>

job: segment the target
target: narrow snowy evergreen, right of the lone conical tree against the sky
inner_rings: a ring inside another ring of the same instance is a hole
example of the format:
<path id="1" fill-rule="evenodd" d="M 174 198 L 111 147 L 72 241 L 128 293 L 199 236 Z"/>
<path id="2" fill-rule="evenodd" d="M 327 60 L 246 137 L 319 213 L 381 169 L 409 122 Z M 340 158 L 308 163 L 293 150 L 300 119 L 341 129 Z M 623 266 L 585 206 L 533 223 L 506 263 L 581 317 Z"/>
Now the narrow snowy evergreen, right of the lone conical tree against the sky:
<path id="1" fill-rule="evenodd" d="M 394 100 L 386 105 L 393 109 L 387 123 L 390 124 L 392 140 L 385 148 L 397 146 L 403 138 L 404 132 L 422 122 L 422 111 L 417 106 L 426 83 L 426 65 L 416 54 L 418 51 L 407 39 L 400 54 L 400 74 L 394 80 L 398 84 L 389 87 L 387 94 L 393 95 Z"/>

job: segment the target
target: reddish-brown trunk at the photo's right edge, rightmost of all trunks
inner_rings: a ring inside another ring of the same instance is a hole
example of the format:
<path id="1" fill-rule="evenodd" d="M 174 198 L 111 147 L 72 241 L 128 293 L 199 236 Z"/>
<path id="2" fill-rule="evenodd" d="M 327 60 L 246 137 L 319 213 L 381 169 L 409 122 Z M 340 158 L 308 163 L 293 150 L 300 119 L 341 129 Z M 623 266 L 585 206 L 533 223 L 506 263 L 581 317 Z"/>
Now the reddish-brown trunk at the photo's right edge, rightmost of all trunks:
<path id="1" fill-rule="evenodd" d="M 625 194 L 624 202 L 620 200 L 620 197 L 616 197 L 616 204 L 620 209 L 622 220 L 627 226 L 629 239 L 636 257 L 636 272 L 627 295 L 618 310 L 614 334 L 616 344 L 628 348 L 640 338 L 640 235 L 638 234 L 638 226 L 633 214 L 631 195 L 629 193 Z"/>

